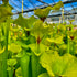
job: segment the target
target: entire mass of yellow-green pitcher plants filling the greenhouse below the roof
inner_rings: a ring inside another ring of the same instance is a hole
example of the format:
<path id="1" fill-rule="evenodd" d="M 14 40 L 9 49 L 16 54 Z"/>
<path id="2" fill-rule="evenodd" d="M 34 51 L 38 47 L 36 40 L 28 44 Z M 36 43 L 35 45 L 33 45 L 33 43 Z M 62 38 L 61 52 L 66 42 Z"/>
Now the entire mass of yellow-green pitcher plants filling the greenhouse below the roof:
<path id="1" fill-rule="evenodd" d="M 77 30 L 73 24 L 44 23 L 51 10 L 63 7 L 59 1 L 54 7 L 34 10 L 38 20 L 21 14 L 12 20 L 12 7 L 3 0 L 0 6 L 1 77 L 77 77 Z"/>

